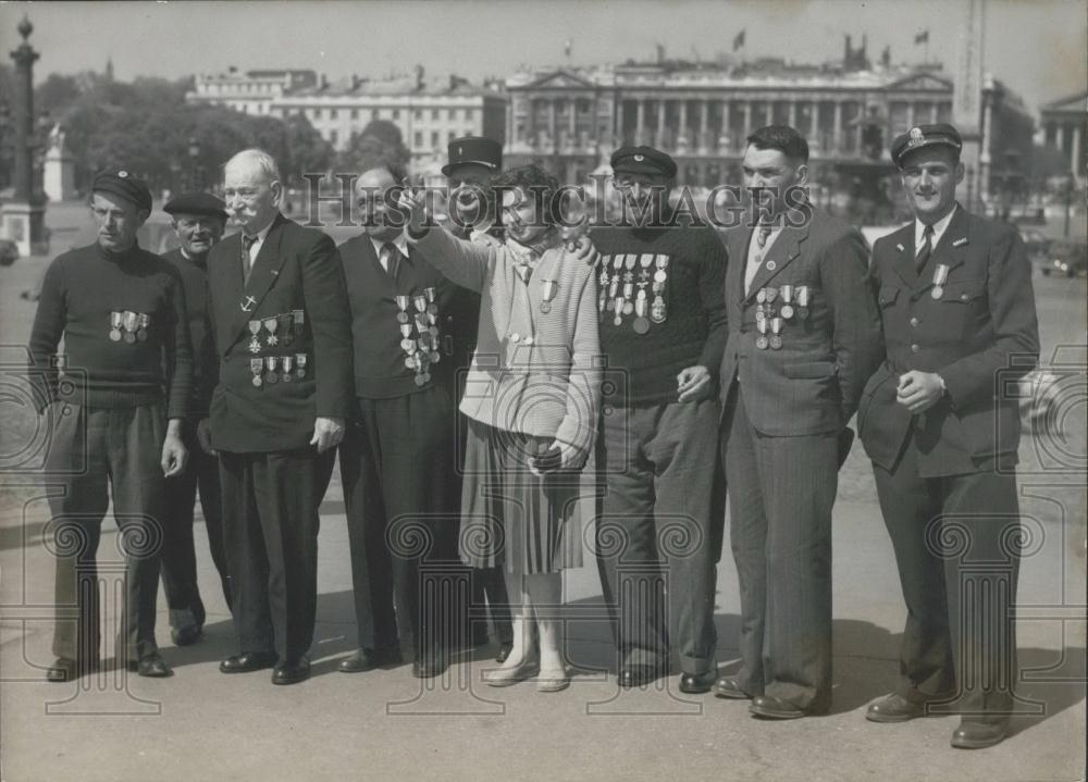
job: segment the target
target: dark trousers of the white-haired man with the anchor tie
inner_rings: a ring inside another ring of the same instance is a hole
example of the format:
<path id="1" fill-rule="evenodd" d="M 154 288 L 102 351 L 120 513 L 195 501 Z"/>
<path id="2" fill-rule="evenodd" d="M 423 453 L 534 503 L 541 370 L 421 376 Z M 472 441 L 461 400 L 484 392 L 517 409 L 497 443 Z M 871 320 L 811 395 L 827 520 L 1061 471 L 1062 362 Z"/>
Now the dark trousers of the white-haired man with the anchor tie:
<path id="1" fill-rule="evenodd" d="M 220 451 L 223 535 L 239 649 L 297 662 L 313 643 L 318 506 L 335 450 Z"/>

